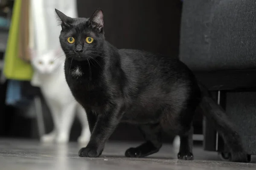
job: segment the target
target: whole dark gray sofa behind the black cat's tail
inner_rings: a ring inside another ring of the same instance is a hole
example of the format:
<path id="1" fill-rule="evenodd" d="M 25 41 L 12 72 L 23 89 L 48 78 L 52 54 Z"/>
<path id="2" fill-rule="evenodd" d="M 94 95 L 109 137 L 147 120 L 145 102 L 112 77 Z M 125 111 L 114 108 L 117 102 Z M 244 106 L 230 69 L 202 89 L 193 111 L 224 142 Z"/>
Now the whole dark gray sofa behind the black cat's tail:
<path id="1" fill-rule="evenodd" d="M 180 60 L 216 94 L 256 155 L 256 1 L 184 0 L 180 34 Z M 204 149 L 225 151 L 208 121 Z"/>

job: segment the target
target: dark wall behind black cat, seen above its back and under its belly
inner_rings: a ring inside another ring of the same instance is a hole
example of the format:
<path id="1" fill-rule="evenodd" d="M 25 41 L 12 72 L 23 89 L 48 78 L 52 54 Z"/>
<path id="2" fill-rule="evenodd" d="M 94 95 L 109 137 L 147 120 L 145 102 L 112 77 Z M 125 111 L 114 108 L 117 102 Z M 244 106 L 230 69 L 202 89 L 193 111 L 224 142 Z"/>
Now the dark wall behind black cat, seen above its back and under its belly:
<path id="1" fill-rule="evenodd" d="M 117 48 L 141 49 L 177 57 L 180 0 L 77 1 L 79 17 L 88 18 L 97 8 L 103 10 L 105 37 Z M 75 127 L 73 132 L 76 132 Z M 166 137 L 166 141 L 171 138 Z M 136 141 L 143 138 L 135 126 L 120 124 L 111 139 Z"/>

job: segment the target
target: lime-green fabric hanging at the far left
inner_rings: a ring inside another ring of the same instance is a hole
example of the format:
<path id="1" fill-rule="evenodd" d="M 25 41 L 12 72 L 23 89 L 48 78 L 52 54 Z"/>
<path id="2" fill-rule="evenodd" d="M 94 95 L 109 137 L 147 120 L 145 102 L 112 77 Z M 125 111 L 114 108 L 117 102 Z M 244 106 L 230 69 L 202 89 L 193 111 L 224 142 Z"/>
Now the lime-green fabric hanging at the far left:
<path id="1" fill-rule="evenodd" d="M 8 79 L 30 81 L 33 69 L 30 63 L 23 61 L 19 55 L 19 24 L 22 0 L 15 0 L 11 26 L 4 59 L 3 73 Z"/>

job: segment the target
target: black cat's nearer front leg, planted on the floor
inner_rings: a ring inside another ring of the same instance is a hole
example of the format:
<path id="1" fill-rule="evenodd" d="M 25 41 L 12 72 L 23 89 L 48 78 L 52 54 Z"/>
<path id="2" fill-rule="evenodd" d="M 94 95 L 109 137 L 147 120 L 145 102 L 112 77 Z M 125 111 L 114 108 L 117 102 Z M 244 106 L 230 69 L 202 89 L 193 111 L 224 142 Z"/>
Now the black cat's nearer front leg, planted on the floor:
<path id="1" fill-rule="evenodd" d="M 81 148 L 81 150 L 79 150 L 80 157 L 95 158 L 102 154 L 105 142 L 116 129 L 116 126 L 119 124 L 123 111 L 123 105 L 116 104 L 107 112 L 98 115 L 96 125 L 93 129 L 87 147 Z"/>

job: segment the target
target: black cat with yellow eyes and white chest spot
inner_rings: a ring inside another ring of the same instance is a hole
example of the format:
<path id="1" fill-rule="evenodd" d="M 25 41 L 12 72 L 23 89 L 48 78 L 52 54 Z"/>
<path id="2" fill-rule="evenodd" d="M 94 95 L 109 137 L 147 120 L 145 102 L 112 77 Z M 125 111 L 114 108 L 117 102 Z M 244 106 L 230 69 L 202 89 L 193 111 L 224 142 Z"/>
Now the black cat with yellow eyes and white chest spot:
<path id="1" fill-rule="evenodd" d="M 62 27 L 59 39 L 66 54 L 67 84 L 86 110 L 91 131 L 90 142 L 79 156 L 100 156 L 105 142 L 124 121 L 137 124 L 146 141 L 126 150 L 125 156 L 156 153 L 165 131 L 180 135 L 178 158 L 191 160 L 192 118 L 200 106 L 224 138 L 231 160 L 247 162 L 240 136 L 185 64 L 168 56 L 117 49 L 105 40 L 101 9 L 89 19 L 71 18 L 57 9 L 56 13 Z"/>

